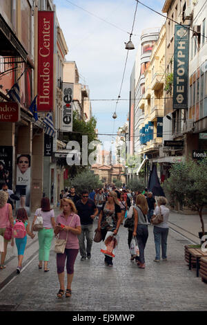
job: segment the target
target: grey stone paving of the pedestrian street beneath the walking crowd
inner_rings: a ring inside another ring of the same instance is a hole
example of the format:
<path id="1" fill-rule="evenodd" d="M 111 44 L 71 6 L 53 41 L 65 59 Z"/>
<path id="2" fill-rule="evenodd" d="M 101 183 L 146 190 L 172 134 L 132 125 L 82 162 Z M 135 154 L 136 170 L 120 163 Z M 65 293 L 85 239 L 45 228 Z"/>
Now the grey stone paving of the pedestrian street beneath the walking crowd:
<path id="1" fill-rule="evenodd" d="M 59 282 L 56 254 L 52 249 L 50 272 L 39 270 L 38 257 L 34 257 L 30 265 L 0 291 L 0 307 L 8 303 L 14 304 L 18 311 L 206 310 L 207 284 L 196 277 L 195 270 L 189 271 L 184 261 L 184 245 L 189 241 L 170 230 L 168 261 L 155 263 L 153 227 L 150 225 L 148 229 L 145 270 L 130 261 L 128 230 L 121 226 L 113 268 L 104 265 L 100 243 L 93 243 L 90 260 L 80 261 L 78 254 L 71 298 L 56 297 Z"/>

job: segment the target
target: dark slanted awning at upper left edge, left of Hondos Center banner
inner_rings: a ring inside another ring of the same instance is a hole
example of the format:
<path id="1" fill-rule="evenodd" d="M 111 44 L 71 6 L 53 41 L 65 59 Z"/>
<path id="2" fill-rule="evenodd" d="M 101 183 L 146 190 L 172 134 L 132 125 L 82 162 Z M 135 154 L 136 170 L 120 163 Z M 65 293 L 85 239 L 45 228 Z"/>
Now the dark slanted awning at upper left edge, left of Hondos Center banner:
<path id="1" fill-rule="evenodd" d="M 12 32 L 6 21 L 0 14 L 0 55 L 3 57 L 21 57 L 27 62 L 28 53 L 21 45 L 17 36 Z"/>

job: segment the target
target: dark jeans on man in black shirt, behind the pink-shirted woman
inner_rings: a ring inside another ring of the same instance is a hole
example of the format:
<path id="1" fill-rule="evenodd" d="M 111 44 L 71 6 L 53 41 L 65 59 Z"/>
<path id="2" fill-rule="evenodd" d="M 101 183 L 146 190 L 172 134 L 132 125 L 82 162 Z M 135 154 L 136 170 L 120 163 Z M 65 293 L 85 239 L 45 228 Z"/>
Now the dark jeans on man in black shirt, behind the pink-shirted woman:
<path id="1" fill-rule="evenodd" d="M 93 231 L 92 224 L 90 225 L 81 225 L 81 234 L 78 235 L 79 239 L 79 250 L 81 257 L 86 257 L 87 254 L 90 254 L 92 248 L 93 240 Z M 85 246 L 85 236 L 87 241 L 87 246 Z"/>

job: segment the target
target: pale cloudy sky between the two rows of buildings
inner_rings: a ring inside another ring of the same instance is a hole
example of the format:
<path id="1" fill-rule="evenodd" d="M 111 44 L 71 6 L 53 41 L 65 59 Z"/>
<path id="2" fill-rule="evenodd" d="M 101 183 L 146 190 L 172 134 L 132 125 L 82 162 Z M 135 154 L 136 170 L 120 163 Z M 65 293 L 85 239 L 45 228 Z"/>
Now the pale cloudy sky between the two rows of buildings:
<path id="1" fill-rule="evenodd" d="M 134 35 L 131 38 L 135 50 L 129 50 L 124 75 L 127 55 L 124 42 L 129 41 L 137 1 L 54 0 L 53 2 L 68 46 L 66 60 L 76 62 L 80 75 L 79 82 L 87 84 L 90 89 L 92 114 L 97 118 L 97 129 L 99 133 L 116 135 L 118 128 L 122 127 L 128 118 L 129 101 L 124 99 L 129 98 L 130 74 L 135 64 L 141 31 L 161 26 L 164 24 L 164 18 L 138 3 Z M 141 2 L 161 12 L 165 1 Z M 123 75 L 124 82 L 121 87 Z M 112 114 L 120 89 L 121 97 L 116 109 L 117 119 L 114 122 Z M 103 142 L 114 140 L 115 137 L 99 136 L 99 139 Z"/>

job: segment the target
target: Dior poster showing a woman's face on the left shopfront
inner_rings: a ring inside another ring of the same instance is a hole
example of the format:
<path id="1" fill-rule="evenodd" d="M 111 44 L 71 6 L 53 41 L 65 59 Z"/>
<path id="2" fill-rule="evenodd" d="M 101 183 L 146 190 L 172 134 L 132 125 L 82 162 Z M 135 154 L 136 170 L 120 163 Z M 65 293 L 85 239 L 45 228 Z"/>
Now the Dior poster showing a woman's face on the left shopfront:
<path id="1" fill-rule="evenodd" d="M 24 207 L 30 214 L 30 167 L 31 157 L 27 154 L 17 155 L 17 195 L 20 200 L 16 202 L 16 209 Z"/>

